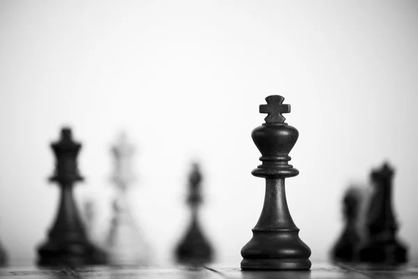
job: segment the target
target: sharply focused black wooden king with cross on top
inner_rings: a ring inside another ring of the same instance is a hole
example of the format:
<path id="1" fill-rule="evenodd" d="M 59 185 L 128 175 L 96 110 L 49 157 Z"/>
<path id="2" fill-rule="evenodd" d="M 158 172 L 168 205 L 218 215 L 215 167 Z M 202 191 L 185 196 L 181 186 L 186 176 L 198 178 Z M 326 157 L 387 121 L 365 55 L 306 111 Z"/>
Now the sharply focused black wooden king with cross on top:
<path id="1" fill-rule="evenodd" d="M 251 137 L 261 152 L 258 165 L 251 174 L 265 178 L 263 211 L 252 239 L 242 248 L 243 270 L 309 270 L 311 250 L 299 238 L 286 201 L 284 179 L 297 176 L 299 171 L 288 165 L 291 151 L 299 133 L 284 123 L 281 114 L 291 111 L 283 105 L 281 96 L 268 96 L 267 105 L 260 105 L 260 113 L 267 113 L 263 126 L 255 128 Z"/>

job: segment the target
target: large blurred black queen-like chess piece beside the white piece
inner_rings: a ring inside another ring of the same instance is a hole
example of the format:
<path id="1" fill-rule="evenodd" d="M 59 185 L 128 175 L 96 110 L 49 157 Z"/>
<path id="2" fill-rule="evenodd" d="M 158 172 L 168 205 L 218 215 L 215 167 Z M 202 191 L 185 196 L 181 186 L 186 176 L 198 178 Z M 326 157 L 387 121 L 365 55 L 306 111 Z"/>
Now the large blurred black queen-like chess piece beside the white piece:
<path id="1" fill-rule="evenodd" d="M 105 264 L 106 255 L 86 236 L 72 194 L 75 182 L 83 181 L 77 167 L 77 155 L 82 144 L 72 140 L 70 128 L 61 130 L 59 142 L 51 144 L 56 156 L 56 167 L 49 181 L 61 188 L 59 211 L 49 230 L 48 240 L 38 247 L 40 266 L 81 266 Z"/>

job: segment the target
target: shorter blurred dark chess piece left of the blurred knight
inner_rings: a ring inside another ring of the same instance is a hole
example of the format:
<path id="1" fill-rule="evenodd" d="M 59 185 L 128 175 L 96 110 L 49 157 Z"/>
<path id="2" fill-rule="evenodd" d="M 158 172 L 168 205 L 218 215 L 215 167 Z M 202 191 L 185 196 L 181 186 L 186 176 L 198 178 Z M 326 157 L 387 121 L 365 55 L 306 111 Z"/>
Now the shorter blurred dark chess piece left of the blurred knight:
<path id="1" fill-rule="evenodd" d="M 361 239 L 358 218 L 362 194 L 358 188 L 348 188 L 343 197 L 343 233 L 332 248 L 331 257 L 336 262 L 356 262 Z"/>

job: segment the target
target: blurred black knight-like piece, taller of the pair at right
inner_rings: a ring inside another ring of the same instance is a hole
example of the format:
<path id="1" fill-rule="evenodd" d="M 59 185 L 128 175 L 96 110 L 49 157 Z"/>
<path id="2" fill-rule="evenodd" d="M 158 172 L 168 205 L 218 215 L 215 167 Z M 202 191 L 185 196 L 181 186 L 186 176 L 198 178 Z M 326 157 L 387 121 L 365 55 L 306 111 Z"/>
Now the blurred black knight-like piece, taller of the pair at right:
<path id="1" fill-rule="evenodd" d="M 392 209 L 392 177 L 394 170 L 385 163 L 373 169 L 374 192 L 366 216 L 366 241 L 359 251 L 362 262 L 402 264 L 407 262 L 407 249 L 396 239 L 398 225 Z"/>

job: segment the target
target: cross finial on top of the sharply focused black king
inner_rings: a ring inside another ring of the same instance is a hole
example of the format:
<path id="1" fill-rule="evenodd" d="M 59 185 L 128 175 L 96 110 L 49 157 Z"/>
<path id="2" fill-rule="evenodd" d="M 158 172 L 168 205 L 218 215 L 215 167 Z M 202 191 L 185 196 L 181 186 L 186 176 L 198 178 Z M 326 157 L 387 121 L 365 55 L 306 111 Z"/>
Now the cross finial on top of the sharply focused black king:
<path id="1" fill-rule="evenodd" d="M 272 95 L 265 98 L 267 105 L 260 105 L 260 113 L 266 113 L 265 123 L 284 123 L 284 113 L 291 112 L 291 105 L 284 105 L 284 98 L 279 95 Z"/>

